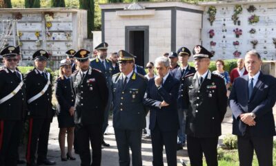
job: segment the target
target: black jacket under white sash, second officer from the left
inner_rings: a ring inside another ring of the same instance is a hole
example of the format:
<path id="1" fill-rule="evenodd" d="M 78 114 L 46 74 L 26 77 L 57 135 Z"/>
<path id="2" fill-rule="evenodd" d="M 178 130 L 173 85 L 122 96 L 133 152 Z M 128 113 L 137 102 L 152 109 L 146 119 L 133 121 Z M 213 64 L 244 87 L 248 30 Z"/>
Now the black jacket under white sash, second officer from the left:
<path id="1" fill-rule="evenodd" d="M 48 80 L 39 73 L 37 68 L 26 73 L 24 77 L 26 84 L 27 101 L 34 95 L 42 91 Z M 51 84 L 43 95 L 37 100 L 28 104 L 28 111 L 32 118 L 52 118 L 55 113 L 52 111 L 52 75 L 50 75 Z"/>

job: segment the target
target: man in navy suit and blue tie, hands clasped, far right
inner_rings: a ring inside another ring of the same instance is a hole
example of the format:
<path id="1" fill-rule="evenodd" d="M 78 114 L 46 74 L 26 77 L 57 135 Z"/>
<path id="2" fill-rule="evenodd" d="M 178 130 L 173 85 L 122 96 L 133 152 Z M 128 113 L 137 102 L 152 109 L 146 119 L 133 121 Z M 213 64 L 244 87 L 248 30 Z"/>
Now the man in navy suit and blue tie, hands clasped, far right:
<path id="1" fill-rule="evenodd" d="M 253 152 L 260 166 L 273 165 L 273 136 L 275 121 L 276 79 L 264 75 L 259 53 L 250 50 L 245 56 L 248 75 L 234 80 L 229 96 L 233 111 L 233 134 L 237 135 L 239 165 L 252 165 Z"/>

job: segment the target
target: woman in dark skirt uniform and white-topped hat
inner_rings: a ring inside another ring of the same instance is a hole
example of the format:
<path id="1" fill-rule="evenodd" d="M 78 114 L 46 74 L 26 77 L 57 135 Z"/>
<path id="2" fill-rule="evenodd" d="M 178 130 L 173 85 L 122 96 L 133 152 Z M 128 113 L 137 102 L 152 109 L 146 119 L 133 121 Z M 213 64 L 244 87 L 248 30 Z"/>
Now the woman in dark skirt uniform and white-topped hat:
<path id="1" fill-rule="evenodd" d="M 75 98 L 70 86 L 70 75 L 72 74 L 71 62 L 68 59 L 61 60 L 59 77 L 55 83 L 55 94 L 58 102 L 59 115 L 59 147 L 61 149 L 61 160 L 75 160 L 72 157 L 72 145 L 74 142 L 74 104 Z M 65 152 L 65 138 L 67 131 L 68 151 Z"/>

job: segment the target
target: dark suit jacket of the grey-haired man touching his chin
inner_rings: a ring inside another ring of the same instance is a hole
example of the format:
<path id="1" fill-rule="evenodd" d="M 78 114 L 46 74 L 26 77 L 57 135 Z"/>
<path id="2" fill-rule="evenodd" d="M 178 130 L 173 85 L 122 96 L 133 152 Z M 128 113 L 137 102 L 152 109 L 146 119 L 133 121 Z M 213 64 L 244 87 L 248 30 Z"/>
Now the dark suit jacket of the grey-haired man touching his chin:
<path id="1" fill-rule="evenodd" d="M 179 82 L 177 79 L 168 75 L 166 81 L 157 89 L 155 78 L 148 82 L 144 104 L 150 109 L 150 129 L 155 129 L 158 125 L 161 131 L 175 131 L 179 129 L 179 120 L 177 113 L 177 96 Z M 169 105 L 159 108 L 162 101 Z"/>

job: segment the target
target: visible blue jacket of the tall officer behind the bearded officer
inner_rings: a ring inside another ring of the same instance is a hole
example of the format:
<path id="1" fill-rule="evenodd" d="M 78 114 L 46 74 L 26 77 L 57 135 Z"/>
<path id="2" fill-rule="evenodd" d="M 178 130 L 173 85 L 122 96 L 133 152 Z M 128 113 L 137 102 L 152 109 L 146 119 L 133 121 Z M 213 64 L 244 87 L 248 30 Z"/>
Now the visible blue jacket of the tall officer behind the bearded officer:
<path id="1" fill-rule="evenodd" d="M 90 66 L 92 68 L 98 69 L 99 71 L 101 71 L 101 73 L 103 73 L 104 77 L 106 78 L 106 85 L 108 86 L 108 89 L 110 89 L 113 66 L 110 60 L 104 59 L 104 61 L 106 63 L 106 68 L 101 63 L 101 60 L 98 57 L 92 59 L 92 61 L 90 62 Z"/>

